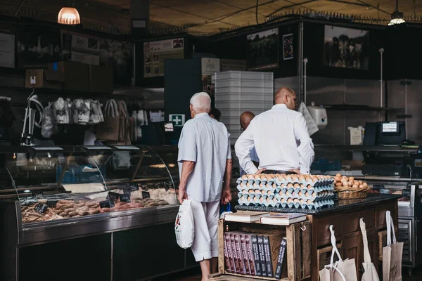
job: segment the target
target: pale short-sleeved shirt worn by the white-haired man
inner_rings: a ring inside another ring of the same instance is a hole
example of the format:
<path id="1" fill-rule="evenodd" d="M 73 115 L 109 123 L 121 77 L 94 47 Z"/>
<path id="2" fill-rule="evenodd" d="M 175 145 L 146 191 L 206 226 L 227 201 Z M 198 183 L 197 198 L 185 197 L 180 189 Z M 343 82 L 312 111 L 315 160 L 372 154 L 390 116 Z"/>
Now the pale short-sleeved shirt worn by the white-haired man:
<path id="1" fill-rule="evenodd" d="M 231 159 L 230 134 L 223 123 L 199 113 L 184 124 L 177 161 L 179 175 L 183 161 L 196 162 L 186 184 L 189 198 L 198 202 L 221 199 L 227 159 Z"/>

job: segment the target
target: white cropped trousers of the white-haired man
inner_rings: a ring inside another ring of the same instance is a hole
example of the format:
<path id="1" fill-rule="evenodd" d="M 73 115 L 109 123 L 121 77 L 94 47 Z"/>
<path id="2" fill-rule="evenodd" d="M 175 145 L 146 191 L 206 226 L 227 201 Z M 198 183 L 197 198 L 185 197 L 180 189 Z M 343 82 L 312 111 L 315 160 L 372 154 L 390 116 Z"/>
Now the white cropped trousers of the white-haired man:
<path id="1" fill-rule="evenodd" d="M 192 200 L 195 237 L 192 252 L 196 261 L 218 257 L 217 228 L 219 219 L 219 201 L 198 202 Z"/>

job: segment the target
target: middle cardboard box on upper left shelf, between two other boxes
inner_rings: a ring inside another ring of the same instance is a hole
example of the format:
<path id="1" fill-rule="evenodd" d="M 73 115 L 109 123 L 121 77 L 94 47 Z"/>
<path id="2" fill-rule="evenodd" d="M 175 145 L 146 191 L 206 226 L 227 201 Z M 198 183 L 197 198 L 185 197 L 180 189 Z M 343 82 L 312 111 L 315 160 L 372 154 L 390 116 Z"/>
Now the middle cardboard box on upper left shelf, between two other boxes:
<path id="1" fill-rule="evenodd" d="M 65 84 L 65 91 L 89 92 L 89 65 L 75 62 L 50 63 L 49 70 L 62 72 Z"/>

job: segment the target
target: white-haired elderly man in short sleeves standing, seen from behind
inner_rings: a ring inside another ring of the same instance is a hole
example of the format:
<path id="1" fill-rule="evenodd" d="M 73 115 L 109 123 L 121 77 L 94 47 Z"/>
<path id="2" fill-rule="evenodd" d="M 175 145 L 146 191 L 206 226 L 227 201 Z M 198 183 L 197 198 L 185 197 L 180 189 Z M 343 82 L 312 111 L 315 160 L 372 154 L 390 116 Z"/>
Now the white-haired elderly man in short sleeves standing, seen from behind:
<path id="1" fill-rule="evenodd" d="M 230 134 L 224 124 L 212 119 L 211 98 L 196 93 L 191 98 L 191 117 L 179 139 L 179 202 L 192 200 L 195 238 L 193 255 L 202 270 L 201 281 L 217 271 L 217 222 L 219 203 L 231 200 Z"/>

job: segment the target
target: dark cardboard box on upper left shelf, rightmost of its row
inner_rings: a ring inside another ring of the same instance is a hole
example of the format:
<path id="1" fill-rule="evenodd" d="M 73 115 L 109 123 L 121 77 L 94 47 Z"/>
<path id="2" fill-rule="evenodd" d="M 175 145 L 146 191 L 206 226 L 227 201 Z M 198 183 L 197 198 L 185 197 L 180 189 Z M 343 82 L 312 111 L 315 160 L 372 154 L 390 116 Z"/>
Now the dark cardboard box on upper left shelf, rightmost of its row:
<path id="1" fill-rule="evenodd" d="M 113 93 L 113 68 L 89 65 L 89 91 Z"/>

